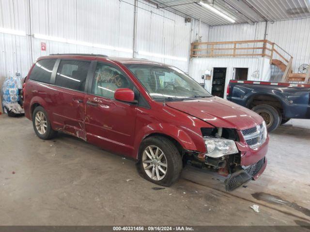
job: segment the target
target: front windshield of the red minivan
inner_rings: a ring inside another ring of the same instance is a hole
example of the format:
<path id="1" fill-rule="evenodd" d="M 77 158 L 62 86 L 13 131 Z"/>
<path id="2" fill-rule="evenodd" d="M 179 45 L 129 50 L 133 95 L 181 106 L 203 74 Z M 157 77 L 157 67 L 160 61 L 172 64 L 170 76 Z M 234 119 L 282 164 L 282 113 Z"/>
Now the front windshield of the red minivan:
<path id="1" fill-rule="evenodd" d="M 175 67 L 127 64 L 154 100 L 186 100 L 212 97 L 190 76 Z"/>

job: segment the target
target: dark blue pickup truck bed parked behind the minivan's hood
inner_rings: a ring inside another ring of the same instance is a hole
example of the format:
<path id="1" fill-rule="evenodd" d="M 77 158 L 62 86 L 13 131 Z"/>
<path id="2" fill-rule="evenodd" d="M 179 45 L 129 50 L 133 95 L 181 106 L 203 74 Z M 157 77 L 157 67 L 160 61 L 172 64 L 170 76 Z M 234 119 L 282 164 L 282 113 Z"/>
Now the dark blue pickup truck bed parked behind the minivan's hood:
<path id="1" fill-rule="evenodd" d="M 310 85 L 231 80 L 227 100 L 262 116 L 269 132 L 291 118 L 310 119 Z"/>

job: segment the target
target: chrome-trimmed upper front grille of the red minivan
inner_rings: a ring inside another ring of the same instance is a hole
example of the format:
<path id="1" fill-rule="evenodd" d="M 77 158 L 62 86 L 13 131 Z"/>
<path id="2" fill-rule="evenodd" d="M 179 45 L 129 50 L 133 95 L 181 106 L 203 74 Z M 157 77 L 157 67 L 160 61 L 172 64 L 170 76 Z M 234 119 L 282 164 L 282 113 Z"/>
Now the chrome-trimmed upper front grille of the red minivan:
<path id="1" fill-rule="evenodd" d="M 263 124 L 261 124 L 256 127 L 241 130 L 241 133 L 246 140 L 247 145 L 251 148 L 256 148 L 265 142 L 264 130 L 265 128 L 263 127 Z"/>

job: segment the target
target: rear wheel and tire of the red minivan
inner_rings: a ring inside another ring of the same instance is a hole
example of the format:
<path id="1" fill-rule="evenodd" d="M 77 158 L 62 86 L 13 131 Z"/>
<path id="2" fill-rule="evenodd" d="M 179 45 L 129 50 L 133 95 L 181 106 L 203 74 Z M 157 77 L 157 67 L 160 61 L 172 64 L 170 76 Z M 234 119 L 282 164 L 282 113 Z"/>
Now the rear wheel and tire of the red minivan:
<path id="1" fill-rule="evenodd" d="M 33 110 L 32 124 L 36 135 L 40 139 L 52 139 L 57 135 L 50 125 L 47 112 L 42 106 L 38 106 Z"/>

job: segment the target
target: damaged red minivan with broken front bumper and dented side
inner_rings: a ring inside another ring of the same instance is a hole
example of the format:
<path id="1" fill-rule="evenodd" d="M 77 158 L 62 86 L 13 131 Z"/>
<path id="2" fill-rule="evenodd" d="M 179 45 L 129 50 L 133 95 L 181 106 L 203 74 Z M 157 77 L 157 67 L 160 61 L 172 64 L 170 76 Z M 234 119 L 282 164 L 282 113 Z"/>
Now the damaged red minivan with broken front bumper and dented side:
<path id="1" fill-rule="evenodd" d="M 185 164 L 227 176 L 233 190 L 266 167 L 263 118 L 212 96 L 181 70 L 137 58 L 54 54 L 23 86 L 25 115 L 41 139 L 57 131 L 137 160 L 147 180 L 170 186 Z"/>

